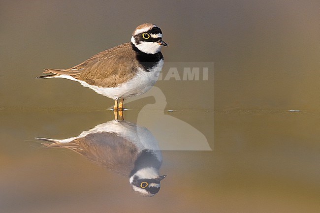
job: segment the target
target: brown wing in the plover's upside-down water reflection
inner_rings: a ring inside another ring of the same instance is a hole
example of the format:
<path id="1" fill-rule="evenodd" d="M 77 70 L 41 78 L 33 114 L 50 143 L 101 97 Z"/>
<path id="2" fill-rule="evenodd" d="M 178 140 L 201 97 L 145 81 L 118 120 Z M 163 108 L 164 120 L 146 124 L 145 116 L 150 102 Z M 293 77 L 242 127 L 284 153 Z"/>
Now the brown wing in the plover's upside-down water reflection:
<path id="1" fill-rule="evenodd" d="M 115 133 L 88 134 L 69 143 L 52 143 L 47 147 L 67 148 L 118 174 L 128 176 L 134 167 L 138 150 L 131 142 Z"/>

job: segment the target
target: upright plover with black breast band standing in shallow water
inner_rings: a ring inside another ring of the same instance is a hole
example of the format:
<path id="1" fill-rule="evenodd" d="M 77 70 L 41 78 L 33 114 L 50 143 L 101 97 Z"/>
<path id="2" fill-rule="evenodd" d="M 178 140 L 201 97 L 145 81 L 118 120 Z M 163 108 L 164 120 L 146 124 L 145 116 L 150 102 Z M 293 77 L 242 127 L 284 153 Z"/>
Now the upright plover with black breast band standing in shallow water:
<path id="1" fill-rule="evenodd" d="M 139 25 L 131 41 L 102 51 L 68 69 L 44 69 L 42 78 L 66 78 L 115 100 L 123 110 L 124 99 L 149 91 L 163 66 L 161 29 L 151 23 Z"/>

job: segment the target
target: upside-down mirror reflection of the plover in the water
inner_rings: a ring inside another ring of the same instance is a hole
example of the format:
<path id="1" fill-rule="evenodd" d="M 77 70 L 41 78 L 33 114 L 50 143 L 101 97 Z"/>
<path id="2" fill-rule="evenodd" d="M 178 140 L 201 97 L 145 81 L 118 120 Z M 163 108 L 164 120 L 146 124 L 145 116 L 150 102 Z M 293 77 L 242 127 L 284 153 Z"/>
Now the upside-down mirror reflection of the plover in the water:
<path id="1" fill-rule="evenodd" d="M 96 164 L 129 177 L 134 191 L 154 196 L 160 190 L 162 155 L 157 140 L 143 126 L 128 121 L 109 121 L 67 139 L 36 138 L 46 147 L 67 148 Z"/>

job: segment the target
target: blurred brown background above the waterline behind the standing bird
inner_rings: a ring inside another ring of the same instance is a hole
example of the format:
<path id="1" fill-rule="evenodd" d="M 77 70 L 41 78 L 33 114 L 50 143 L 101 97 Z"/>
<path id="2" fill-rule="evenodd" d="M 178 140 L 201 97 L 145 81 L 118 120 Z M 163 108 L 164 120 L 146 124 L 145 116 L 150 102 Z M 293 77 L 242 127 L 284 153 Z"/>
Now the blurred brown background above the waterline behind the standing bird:
<path id="1" fill-rule="evenodd" d="M 318 9 L 312 0 L 1 1 L 1 106 L 111 104 L 75 82 L 33 77 L 128 42 L 136 26 L 152 22 L 169 44 L 165 61 L 215 63 L 216 109 L 319 109 Z M 168 109 L 178 96 L 184 105 L 184 94 L 201 101 L 180 83 L 156 85 Z"/>

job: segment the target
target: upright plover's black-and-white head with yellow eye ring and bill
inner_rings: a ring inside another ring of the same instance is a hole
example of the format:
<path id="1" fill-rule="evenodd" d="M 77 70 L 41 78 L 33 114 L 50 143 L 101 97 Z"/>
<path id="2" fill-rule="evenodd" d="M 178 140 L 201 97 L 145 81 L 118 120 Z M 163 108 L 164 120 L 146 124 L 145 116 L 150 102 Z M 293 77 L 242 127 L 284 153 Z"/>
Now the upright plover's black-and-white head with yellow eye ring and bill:
<path id="1" fill-rule="evenodd" d="M 155 24 L 142 24 L 132 33 L 132 44 L 141 52 L 156 54 L 160 52 L 161 46 L 168 46 L 162 41 L 162 31 Z"/>

